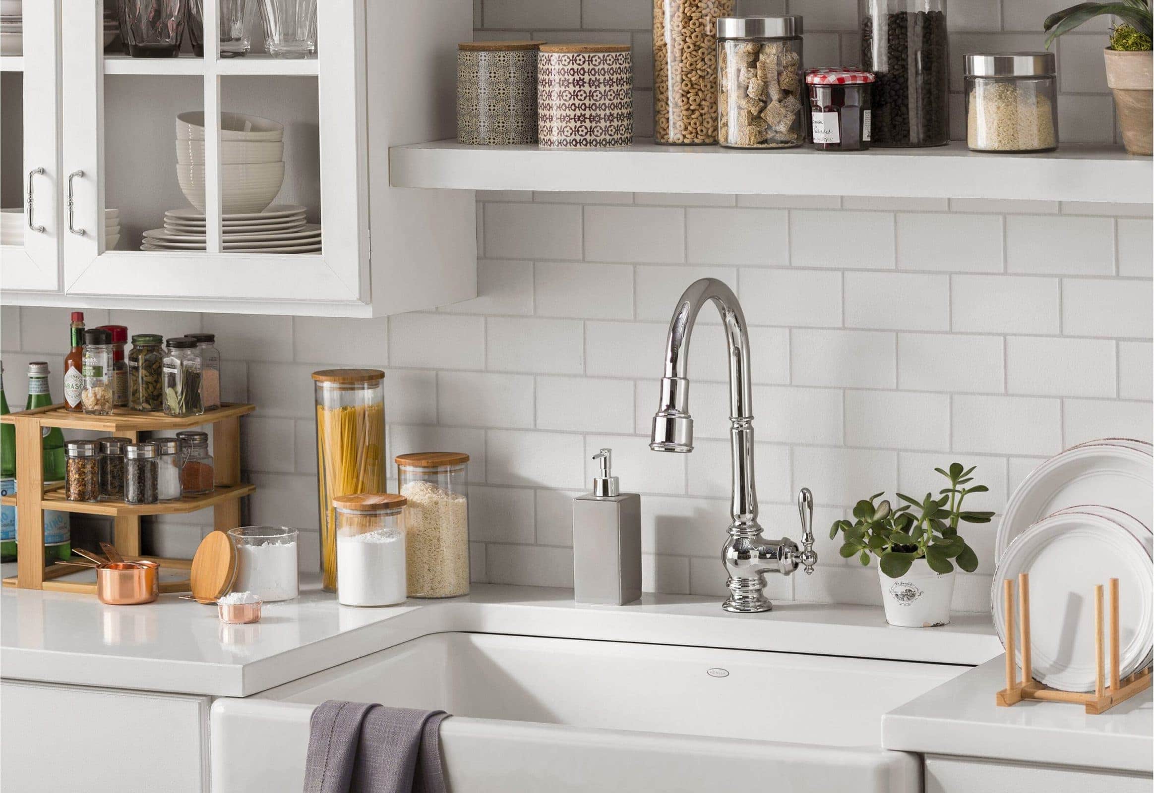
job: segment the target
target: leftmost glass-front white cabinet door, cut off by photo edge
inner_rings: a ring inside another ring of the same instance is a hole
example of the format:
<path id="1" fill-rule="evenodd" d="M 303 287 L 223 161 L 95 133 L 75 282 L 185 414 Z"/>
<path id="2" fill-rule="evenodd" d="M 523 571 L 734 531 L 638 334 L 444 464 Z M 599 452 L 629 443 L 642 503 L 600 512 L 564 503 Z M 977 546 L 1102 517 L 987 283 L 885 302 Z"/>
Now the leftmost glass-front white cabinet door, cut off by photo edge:
<path id="1" fill-rule="evenodd" d="M 25 1 L 0 31 L 0 287 L 60 288 L 59 9 Z M 13 27 L 16 29 L 14 30 Z"/>

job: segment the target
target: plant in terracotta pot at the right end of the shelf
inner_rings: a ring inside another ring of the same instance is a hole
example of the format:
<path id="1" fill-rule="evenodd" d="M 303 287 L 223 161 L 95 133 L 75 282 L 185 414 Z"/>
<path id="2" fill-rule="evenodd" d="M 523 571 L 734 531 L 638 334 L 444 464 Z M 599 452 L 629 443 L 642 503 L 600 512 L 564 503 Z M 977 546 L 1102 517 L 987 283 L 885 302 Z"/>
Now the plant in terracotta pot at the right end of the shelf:
<path id="1" fill-rule="evenodd" d="M 1110 31 L 1106 48 L 1106 83 L 1114 92 L 1122 124 L 1122 142 L 1131 154 L 1151 154 L 1151 3 L 1149 0 L 1117 2 L 1080 2 L 1042 23 L 1049 37 L 1047 48 L 1058 36 L 1067 33 L 1095 16 L 1116 16 L 1123 24 Z"/>

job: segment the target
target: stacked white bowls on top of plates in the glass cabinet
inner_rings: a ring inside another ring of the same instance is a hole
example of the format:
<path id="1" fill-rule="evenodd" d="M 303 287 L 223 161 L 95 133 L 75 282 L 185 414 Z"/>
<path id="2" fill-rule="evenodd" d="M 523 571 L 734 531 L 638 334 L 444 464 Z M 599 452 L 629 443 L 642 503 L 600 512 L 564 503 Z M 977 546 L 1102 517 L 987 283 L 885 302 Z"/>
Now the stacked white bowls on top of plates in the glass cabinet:
<path id="1" fill-rule="evenodd" d="M 243 113 L 220 114 L 220 213 L 263 212 L 285 178 L 285 128 Z M 188 202 L 204 211 L 204 112 L 177 116 L 177 179 Z"/>

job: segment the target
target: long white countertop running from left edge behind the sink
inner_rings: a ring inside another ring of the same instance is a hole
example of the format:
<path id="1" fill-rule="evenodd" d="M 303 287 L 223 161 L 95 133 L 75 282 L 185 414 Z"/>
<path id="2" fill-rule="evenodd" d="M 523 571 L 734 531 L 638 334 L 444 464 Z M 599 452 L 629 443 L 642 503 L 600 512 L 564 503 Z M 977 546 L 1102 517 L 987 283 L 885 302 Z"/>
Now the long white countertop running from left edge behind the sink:
<path id="1" fill-rule="evenodd" d="M 0 674 L 47 682 L 247 696 L 377 650 L 443 632 L 503 633 L 744 650 L 981 664 L 1002 651 L 987 614 L 894 628 L 881 607 L 780 603 L 730 614 L 720 598 L 646 594 L 639 603 L 574 603 L 572 590 L 474 584 L 471 595 L 384 609 L 342 606 L 317 576 L 256 625 L 226 626 L 216 606 L 162 595 L 108 606 L 96 597 L 3 589 Z M 992 697 L 992 694 L 990 695 Z"/>

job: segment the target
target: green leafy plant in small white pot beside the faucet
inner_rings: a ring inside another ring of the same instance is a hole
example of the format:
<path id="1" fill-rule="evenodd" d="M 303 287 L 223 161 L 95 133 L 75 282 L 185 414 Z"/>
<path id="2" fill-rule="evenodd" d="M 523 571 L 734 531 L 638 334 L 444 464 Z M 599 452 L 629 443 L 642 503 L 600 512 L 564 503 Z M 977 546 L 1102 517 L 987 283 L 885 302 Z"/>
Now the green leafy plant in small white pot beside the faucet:
<path id="1" fill-rule="evenodd" d="M 830 527 L 830 539 L 840 531 L 844 558 L 857 557 L 869 565 L 878 558 L 882 602 L 890 625 L 905 628 L 936 627 L 950 622 L 950 598 L 953 596 L 953 566 L 973 573 L 977 554 L 958 534 L 958 523 L 989 523 L 992 512 L 962 509 L 971 493 L 984 493 L 983 484 L 973 482 L 974 466 L 960 462 L 949 470 L 935 468 L 950 481 L 950 486 L 917 500 L 904 493 L 905 501 L 893 507 L 878 501 L 885 493 L 875 493 L 854 506 L 854 522 L 838 520 Z M 952 561 L 951 561 L 952 560 Z"/>

